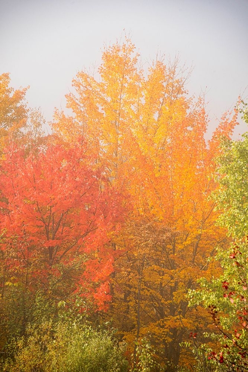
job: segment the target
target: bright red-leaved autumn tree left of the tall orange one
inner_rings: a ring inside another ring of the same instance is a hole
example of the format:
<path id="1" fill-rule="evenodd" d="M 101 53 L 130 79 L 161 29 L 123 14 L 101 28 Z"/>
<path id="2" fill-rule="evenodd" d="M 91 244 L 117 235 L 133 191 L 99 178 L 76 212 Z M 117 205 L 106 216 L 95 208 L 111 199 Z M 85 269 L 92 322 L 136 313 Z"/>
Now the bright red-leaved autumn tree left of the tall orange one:
<path id="1" fill-rule="evenodd" d="M 0 190 L 2 343 L 25 332 L 40 292 L 57 304 L 77 294 L 83 308 L 105 310 L 110 242 L 124 211 L 87 143 L 68 149 L 51 139 L 28 155 L 25 146 L 11 144 L 1 162 Z"/>

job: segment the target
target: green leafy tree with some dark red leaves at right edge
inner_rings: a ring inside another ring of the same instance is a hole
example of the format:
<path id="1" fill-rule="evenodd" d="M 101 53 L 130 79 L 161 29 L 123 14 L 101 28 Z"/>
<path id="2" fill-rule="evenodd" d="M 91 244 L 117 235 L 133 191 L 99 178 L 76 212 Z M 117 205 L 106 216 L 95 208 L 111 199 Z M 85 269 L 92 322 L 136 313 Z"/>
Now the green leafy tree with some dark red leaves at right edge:
<path id="1" fill-rule="evenodd" d="M 211 282 L 202 278 L 201 290 L 191 292 L 192 304 L 208 308 L 215 326 L 209 336 L 219 347 L 209 352 L 209 358 L 231 366 L 232 371 L 248 370 L 248 133 L 243 138 L 223 142 L 217 170 L 220 186 L 214 194 L 223 211 L 219 221 L 234 242 L 229 250 L 219 249 L 215 258 L 222 275 Z"/>

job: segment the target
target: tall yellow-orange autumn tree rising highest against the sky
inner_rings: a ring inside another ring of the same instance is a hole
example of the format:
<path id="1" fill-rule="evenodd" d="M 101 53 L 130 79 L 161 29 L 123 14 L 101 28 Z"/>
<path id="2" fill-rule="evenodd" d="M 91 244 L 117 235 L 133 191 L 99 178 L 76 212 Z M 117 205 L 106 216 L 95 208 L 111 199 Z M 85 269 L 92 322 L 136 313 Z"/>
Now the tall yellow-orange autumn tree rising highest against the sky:
<path id="1" fill-rule="evenodd" d="M 98 73 L 76 75 L 66 96 L 73 114 L 57 111 L 53 129 L 67 143 L 85 136 L 97 166 L 126 196 L 131 210 L 114 243 L 122 254 L 109 316 L 130 345 L 149 334 L 173 369 L 180 355 L 185 363 L 181 342 L 195 324 L 203 326 L 186 292 L 212 275 L 207 258 L 225 241 L 208 196 L 213 155 L 236 116 L 223 117 L 206 143 L 204 102 L 188 97 L 179 62 L 156 60 L 144 72 L 128 39 L 105 48 Z"/>

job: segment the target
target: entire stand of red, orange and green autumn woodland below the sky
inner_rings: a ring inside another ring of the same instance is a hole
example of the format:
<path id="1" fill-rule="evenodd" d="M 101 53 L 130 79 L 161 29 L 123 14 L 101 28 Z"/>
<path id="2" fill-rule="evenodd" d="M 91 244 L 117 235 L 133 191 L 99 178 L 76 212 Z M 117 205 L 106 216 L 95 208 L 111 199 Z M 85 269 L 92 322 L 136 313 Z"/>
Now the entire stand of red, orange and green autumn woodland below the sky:
<path id="1" fill-rule="evenodd" d="M 0 75 L 0 370 L 248 370 L 248 104 L 188 78 L 126 38 L 45 134 Z"/>

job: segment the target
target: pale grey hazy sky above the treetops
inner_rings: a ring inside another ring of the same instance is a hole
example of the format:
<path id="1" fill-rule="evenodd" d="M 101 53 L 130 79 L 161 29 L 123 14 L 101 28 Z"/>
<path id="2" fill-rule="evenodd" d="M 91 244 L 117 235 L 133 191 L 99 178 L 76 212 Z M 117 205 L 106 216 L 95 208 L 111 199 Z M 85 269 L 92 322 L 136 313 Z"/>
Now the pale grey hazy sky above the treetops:
<path id="1" fill-rule="evenodd" d="M 76 72 L 99 65 L 123 29 L 143 62 L 160 52 L 193 65 L 187 88 L 206 92 L 210 130 L 248 96 L 248 0 L 0 0 L 0 73 L 30 85 L 29 105 L 50 121 Z"/>

